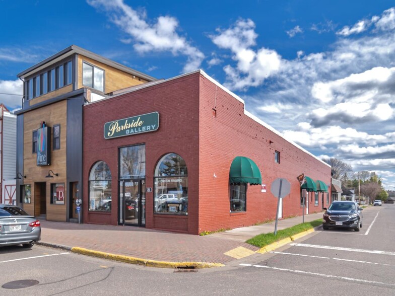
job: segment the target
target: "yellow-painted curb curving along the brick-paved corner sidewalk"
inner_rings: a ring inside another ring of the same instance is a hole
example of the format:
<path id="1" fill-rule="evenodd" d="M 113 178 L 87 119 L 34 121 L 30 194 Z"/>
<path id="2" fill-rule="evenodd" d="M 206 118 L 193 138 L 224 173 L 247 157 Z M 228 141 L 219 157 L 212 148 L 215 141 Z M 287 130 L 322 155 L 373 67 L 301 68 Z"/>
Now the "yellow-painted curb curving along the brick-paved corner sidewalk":
<path id="1" fill-rule="evenodd" d="M 136 257 L 124 256 L 124 255 L 115 255 L 100 251 L 88 250 L 79 247 L 71 248 L 73 253 L 78 253 L 87 256 L 93 256 L 103 259 L 110 259 L 121 261 L 125 263 L 145 265 L 149 267 L 160 267 L 160 268 L 179 268 L 179 269 L 190 269 L 190 268 L 210 268 L 210 267 L 221 267 L 225 266 L 221 263 L 210 263 L 210 262 L 168 262 L 168 261 L 156 261 L 156 260 L 148 260 L 141 259 Z"/>

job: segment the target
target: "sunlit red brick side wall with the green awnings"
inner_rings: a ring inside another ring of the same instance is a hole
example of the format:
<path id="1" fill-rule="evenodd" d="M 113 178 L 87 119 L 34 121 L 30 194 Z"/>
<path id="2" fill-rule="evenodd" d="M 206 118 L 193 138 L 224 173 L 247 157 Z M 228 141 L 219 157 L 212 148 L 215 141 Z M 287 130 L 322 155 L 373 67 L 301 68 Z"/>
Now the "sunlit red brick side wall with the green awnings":
<path id="1" fill-rule="evenodd" d="M 200 85 L 199 233 L 275 219 L 278 200 L 270 185 L 277 178 L 291 183 L 291 193 L 283 200 L 283 217 L 302 215 L 296 177 L 304 172 L 330 184 L 331 168 L 245 115 L 241 101 L 204 76 Z M 275 151 L 280 152 L 280 164 L 275 163 Z M 261 171 L 262 183 L 267 185 L 266 193 L 260 186 L 248 186 L 247 210 L 242 213 L 230 213 L 229 169 L 236 156 L 253 160 Z M 310 196 L 309 212 L 321 209 L 322 193 L 318 206 Z"/>

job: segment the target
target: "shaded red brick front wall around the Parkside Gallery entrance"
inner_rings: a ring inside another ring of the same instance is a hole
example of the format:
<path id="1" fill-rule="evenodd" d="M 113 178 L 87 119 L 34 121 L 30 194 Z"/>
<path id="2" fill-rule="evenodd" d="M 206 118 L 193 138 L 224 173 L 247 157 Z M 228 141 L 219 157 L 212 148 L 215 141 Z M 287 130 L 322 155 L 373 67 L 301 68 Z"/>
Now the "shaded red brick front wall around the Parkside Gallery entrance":
<path id="1" fill-rule="evenodd" d="M 159 112 L 159 129 L 136 135 L 104 139 L 104 123 L 131 116 Z M 185 76 L 146 89 L 84 106 L 84 202 L 88 202 L 88 178 L 93 164 L 105 161 L 112 174 L 111 213 L 88 212 L 84 222 L 117 224 L 118 147 L 145 143 L 146 186 L 154 188 L 154 170 L 159 159 L 176 153 L 188 168 L 187 216 L 153 213 L 153 194 L 146 193 L 146 227 L 179 232 L 198 231 L 199 172 L 199 75 Z M 190 209 L 195 209 L 194 211 Z"/>

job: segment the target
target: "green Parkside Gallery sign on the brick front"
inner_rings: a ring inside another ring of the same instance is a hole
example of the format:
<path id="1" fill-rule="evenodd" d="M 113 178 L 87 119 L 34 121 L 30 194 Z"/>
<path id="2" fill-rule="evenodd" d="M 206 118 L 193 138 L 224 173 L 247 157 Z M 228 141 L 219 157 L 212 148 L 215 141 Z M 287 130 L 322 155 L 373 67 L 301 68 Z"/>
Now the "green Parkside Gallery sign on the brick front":
<path id="1" fill-rule="evenodd" d="M 106 122 L 104 124 L 104 138 L 111 139 L 155 131 L 159 128 L 159 113 L 152 112 L 134 117 Z"/>

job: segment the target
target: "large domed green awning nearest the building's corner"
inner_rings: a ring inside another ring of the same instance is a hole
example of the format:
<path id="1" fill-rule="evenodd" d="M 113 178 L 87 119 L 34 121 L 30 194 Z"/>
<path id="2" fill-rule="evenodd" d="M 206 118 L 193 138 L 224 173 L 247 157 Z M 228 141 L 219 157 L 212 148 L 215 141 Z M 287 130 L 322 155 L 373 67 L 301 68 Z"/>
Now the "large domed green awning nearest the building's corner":
<path id="1" fill-rule="evenodd" d="M 249 158 L 237 156 L 230 165 L 230 184 L 249 183 L 250 185 L 262 184 L 259 168 Z"/>

